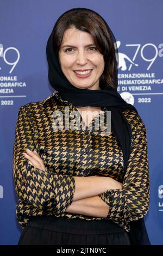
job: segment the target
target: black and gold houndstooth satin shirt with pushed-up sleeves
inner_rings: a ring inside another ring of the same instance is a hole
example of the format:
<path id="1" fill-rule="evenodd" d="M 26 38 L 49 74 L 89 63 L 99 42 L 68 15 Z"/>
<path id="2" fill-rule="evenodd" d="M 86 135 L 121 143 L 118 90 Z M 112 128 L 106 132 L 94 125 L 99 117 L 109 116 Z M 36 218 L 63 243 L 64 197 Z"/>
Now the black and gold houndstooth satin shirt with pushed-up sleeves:
<path id="1" fill-rule="evenodd" d="M 30 216 L 37 215 L 102 220 L 100 217 L 65 212 L 73 200 L 73 176 L 110 176 L 117 181 L 122 180 L 123 154 L 112 132 L 109 136 L 101 136 L 102 131 L 96 131 L 94 126 L 91 130 L 90 125 L 84 126 L 84 130 L 66 130 L 69 124 L 66 106 L 71 113 L 77 111 L 72 103 L 62 99 L 55 91 L 42 101 L 21 106 L 18 112 L 13 174 L 19 198 L 16 216 L 22 228 L 26 227 Z M 57 119 L 62 124 L 60 130 L 54 129 L 54 113 L 63 114 L 64 118 L 58 115 Z M 149 173 L 146 127 L 135 111 L 126 109 L 123 113 L 132 131 L 131 152 L 123 187 L 122 190 L 108 190 L 99 194 L 99 197 L 109 205 L 106 218 L 129 231 L 129 222 L 142 218 L 149 209 Z M 72 115 L 71 124 L 76 122 Z M 79 124 L 84 124 L 81 116 Z M 23 156 L 26 148 L 37 151 L 46 172 L 28 163 Z"/>

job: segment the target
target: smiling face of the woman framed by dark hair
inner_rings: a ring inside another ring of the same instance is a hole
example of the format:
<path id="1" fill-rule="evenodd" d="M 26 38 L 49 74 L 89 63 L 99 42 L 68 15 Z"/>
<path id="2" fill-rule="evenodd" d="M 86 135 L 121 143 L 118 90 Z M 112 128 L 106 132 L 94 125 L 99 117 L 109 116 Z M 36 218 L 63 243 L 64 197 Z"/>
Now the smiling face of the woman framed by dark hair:
<path id="1" fill-rule="evenodd" d="M 99 78 L 103 74 L 105 63 L 103 55 L 96 49 L 92 35 L 76 28 L 66 29 L 59 50 L 59 61 L 62 72 L 73 86 L 80 89 L 100 89 Z M 87 70 L 86 74 L 75 72 L 82 70 Z"/>

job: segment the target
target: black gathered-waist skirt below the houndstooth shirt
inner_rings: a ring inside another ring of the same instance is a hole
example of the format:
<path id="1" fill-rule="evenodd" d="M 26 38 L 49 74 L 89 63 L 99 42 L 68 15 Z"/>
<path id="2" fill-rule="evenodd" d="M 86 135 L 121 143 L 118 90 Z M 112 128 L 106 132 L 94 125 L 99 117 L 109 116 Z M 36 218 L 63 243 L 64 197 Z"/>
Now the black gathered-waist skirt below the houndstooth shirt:
<path id="1" fill-rule="evenodd" d="M 18 245 L 130 245 L 128 233 L 109 220 L 36 216 L 23 229 Z"/>

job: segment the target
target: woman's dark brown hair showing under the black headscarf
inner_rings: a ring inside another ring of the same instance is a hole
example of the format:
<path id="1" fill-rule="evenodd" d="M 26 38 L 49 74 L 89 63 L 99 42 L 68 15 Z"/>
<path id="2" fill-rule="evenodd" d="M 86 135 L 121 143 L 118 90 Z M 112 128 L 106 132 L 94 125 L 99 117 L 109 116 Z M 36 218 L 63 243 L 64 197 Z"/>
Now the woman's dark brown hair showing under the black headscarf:
<path id="1" fill-rule="evenodd" d="M 116 54 L 110 30 L 100 15 L 91 9 L 74 8 L 61 15 L 54 30 L 53 47 L 59 52 L 64 32 L 68 28 L 77 28 L 92 35 L 97 50 L 103 54 L 105 67 L 99 79 L 99 87 L 104 89 L 106 83 L 110 89 L 115 88 Z"/>

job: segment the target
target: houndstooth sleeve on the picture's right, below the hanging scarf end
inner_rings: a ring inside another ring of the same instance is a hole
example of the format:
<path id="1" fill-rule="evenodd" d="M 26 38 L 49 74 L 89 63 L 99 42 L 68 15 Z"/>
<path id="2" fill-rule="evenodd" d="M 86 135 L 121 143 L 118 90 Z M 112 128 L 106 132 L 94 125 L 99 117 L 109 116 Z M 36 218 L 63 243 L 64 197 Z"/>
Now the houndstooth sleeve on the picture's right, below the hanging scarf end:
<path id="1" fill-rule="evenodd" d="M 109 220 L 131 222 L 144 217 L 149 210 L 149 172 L 146 127 L 137 116 L 131 127 L 133 142 L 127 172 L 121 190 L 108 190 L 98 196 L 109 205 Z"/>

